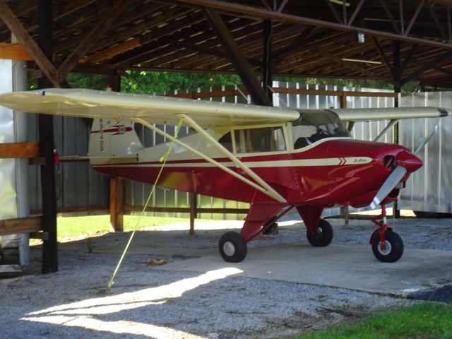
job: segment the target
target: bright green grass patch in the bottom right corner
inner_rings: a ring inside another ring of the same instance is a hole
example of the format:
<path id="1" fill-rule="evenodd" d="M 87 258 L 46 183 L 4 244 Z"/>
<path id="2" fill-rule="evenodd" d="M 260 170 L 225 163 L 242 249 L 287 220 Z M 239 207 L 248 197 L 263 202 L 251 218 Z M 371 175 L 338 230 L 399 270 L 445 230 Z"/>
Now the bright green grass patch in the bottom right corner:
<path id="1" fill-rule="evenodd" d="M 423 303 L 367 316 L 354 325 L 331 326 L 294 339 L 446 339 L 452 338 L 452 304 Z"/>

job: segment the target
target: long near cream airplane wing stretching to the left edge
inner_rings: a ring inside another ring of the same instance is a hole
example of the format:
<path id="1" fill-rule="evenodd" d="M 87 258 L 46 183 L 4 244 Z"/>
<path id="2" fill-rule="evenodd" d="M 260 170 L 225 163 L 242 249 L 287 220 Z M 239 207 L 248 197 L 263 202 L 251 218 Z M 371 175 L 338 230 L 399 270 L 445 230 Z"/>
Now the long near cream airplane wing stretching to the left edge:
<path id="1" fill-rule="evenodd" d="M 187 114 L 204 128 L 299 118 L 295 109 L 85 89 L 48 88 L 5 93 L 0 95 L 0 105 L 18 112 L 71 117 L 141 118 L 151 124 L 175 125 L 180 119 L 178 114 Z"/>

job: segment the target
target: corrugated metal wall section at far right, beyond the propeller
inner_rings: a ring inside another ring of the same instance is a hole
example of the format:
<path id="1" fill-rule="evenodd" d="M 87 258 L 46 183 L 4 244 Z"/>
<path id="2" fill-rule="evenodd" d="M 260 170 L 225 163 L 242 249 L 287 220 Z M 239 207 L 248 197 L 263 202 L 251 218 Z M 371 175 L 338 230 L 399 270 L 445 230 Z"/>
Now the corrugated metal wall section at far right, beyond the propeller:
<path id="1" fill-rule="evenodd" d="M 401 97 L 400 107 L 414 106 L 452 109 L 452 92 L 412 93 Z M 400 143 L 415 150 L 439 121 L 439 131 L 417 154 L 424 166 L 412 174 L 401 191 L 400 208 L 452 212 L 452 117 L 400 121 Z"/>

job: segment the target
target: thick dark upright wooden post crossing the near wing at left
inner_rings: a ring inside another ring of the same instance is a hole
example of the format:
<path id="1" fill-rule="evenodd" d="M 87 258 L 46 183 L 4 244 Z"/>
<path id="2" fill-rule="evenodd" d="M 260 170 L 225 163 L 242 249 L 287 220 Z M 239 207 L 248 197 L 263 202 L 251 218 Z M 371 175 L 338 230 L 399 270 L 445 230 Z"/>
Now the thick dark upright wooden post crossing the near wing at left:
<path id="1" fill-rule="evenodd" d="M 52 1 L 39 0 L 38 42 L 48 60 L 53 56 Z M 51 87 L 50 79 L 40 78 L 39 88 Z M 57 189 L 54 166 L 54 122 L 51 115 L 40 114 L 38 118 L 40 157 L 45 158 L 41 166 L 42 186 L 42 230 L 49 234 L 42 242 L 42 273 L 58 270 L 57 242 Z"/>

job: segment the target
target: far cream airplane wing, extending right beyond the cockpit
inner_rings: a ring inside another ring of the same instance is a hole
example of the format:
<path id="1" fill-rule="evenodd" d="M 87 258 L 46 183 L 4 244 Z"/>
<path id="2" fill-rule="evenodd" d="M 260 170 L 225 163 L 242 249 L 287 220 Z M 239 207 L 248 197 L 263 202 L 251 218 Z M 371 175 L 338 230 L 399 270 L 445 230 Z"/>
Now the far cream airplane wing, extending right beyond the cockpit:
<path id="1" fill-rule="evenodd" d="M 328 109 L 342 121 L 399 120 L 447 117 L 448 110 L 436 107 L 352 108 Z"/>

